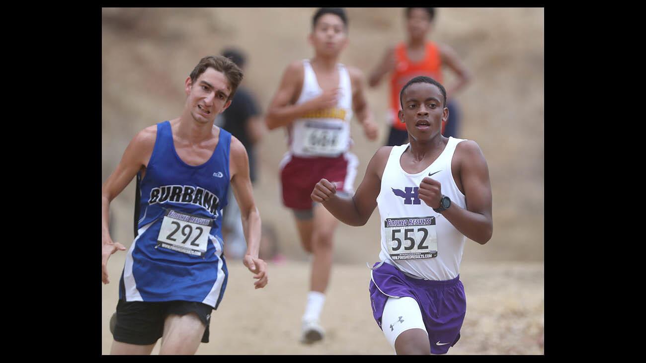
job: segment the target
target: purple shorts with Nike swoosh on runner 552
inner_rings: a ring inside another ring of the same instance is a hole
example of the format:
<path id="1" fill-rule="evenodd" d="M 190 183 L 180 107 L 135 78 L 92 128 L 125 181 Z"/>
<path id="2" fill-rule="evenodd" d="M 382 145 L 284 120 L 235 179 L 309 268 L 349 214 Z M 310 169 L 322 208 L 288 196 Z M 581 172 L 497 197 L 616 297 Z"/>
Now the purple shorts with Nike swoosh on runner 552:
<path id="1" fill-rule="evenodd" d="M 460 276 L 446 281 L 418 280 L 404 275 L 387 263 L 374 269 L 370 281 L 370 302 L 380 329 L 381 316 L 388 300 L 388 296 L 384 294 L 409 296 L 417 301 L 428 333 L 431 353 L 444 354 L 460 339 L 460 328 L 466 314 L 466 296 Z"/>

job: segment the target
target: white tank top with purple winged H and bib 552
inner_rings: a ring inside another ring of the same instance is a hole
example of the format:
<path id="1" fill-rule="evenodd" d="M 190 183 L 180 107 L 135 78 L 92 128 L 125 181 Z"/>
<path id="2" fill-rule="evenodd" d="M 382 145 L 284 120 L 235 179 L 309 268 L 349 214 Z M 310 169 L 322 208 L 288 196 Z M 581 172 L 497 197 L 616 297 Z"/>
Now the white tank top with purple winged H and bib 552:
<path id="1" fill-rule="evenodd" d="M 408 174 L 401 167 L 401 156 L 409 144 L 390 151 L 377 196 L 381 261 L 426 280 L 450 280 L 459 275 L 466 237 L 419 199 L 417 191 L 422 179 L 435 173 L 431 178 L 442 184 L 442 194 L 451 198 L 452 205 L 466 208 L 451 171 L 453 153 L 461 141 L 450 137 L 437 160 L 417 174 Z"/>

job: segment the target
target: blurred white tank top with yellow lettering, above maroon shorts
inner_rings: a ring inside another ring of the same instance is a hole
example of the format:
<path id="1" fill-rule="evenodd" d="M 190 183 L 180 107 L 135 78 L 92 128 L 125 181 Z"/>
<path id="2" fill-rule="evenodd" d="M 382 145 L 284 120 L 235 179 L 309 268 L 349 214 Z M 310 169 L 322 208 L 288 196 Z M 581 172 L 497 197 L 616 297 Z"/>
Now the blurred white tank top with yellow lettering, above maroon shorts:
<path id="1" fill-rule="evenodd" d="M 318 85 L 309 60 L 303 60 L 305 71 L 303 88 L 296 104 L 304 103 L 323 93 Z M 296 156 L 339 156 L 350 147 L 350 120 L 352 119 L 352 87 L 348 70 L 338 63 L 339 87 L 337 107 L 315 110 L 295 119 L 287 128 L 289 151 Z"/>

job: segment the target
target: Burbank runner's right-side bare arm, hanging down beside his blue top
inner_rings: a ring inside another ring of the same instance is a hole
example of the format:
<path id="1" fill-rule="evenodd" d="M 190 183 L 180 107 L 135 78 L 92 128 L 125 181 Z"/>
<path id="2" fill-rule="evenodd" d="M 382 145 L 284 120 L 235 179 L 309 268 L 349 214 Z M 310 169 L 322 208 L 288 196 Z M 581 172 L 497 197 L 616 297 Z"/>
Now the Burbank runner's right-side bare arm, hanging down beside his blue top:
<path id="1" fill-rule="evenodd" d="M 260 213 L 253 200 L 253 187 L 249 179 L 249 156 L 247 150 L 234 136 L 231 136 L 231 151 L 229 152 L 229 174 L 231 175 L 231 187 L 233 195 L 240 207 L 240 218 L 245 240 L 247 240 L 247 253 L 243 263 L 253 272 L 256 289 L 265 287 L 268 282 L 267 264 L 258 258 L 260 251 Z"/>

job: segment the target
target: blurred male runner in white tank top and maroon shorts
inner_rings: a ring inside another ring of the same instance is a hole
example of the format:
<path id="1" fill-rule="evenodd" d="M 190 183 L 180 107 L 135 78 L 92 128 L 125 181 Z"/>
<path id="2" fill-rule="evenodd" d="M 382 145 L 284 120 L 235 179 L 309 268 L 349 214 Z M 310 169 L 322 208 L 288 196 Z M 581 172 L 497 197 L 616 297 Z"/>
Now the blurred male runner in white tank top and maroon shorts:
<path id="1" fill-rule="evenodd" d="M 324 337 L 319 316 L 338 223 L 326 209 L 313 205 L 311 191 L 321 178 L 335 183 L 340 191 L 353 191 L 357 174 L 357 157 L 349 152 L 353 114 L 366 136 L 377 139 L 362 72 L 338 63 L 348 44 L 347 27 L 341 8 L 320 8 L 314 14 L 308 39 L 315 56 L 287 66 L 266 116 L 269 130 L 287 128 L 289 151 L 280 163 L 283 202 L 294 212 L 302 246 L 313 254 L 310 292 L 302 316 L 304 343 Z"/>

